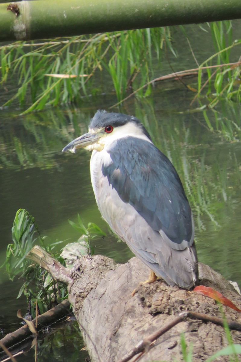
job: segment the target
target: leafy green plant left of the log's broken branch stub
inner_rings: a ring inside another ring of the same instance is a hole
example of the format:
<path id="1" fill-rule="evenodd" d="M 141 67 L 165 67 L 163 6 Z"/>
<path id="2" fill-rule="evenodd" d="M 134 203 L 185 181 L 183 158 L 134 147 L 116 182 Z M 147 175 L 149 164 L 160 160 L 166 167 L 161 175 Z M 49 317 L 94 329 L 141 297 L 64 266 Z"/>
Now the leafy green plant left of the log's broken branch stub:
<path id="1" fill-rule="evenodd" d="M 52 253 L 59 242 L 45 245 L 45 239 L 46 237 L 41 237 L 34 218 L 29 212 L 24 209 L 18 210 L 12 227 L 13 244 L 8 245 L 6 260 L 1 268 L 5 266 L 10 280 L 16 276 L 24 279 L 17 298 L 22 294 L 26 296 L 32 315 L 35 313 L 35 302 L 37 302 L 42 314 L 52 308 L 53 302 L 57 300 L 59 302 L 67 296 L 64 285 L 59 283 L 57 286 L 47 271 L 42 270 L 26 258 L 28 252 L 37 242 L 48 253 Z"/>

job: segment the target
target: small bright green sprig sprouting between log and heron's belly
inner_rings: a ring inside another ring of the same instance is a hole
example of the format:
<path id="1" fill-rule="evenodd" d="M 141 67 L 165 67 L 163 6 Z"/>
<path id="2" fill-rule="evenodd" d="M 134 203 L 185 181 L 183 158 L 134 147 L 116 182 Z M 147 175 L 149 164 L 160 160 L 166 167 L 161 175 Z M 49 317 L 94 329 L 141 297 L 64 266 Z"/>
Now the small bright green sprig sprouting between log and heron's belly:
<path id="1" fill-rule="evenodd" d="M 78 224 L 74 223 L 71 220 L 68 220 L 69 224 L 80 232 L 81 236 L 83 235 L 83 239 L 85 241 L 85 245 L 87 247 L 87 252 L 90 255 L 94 254 L 94 249 L 91 245 L 91 240 L 96 239 L 96 237 L 104 237 L 106 234 L 94 223 L 88 223 L 88 226 L 85 227 L 82 220 L 80 219 L 80 215 L 78 214 Z"/>

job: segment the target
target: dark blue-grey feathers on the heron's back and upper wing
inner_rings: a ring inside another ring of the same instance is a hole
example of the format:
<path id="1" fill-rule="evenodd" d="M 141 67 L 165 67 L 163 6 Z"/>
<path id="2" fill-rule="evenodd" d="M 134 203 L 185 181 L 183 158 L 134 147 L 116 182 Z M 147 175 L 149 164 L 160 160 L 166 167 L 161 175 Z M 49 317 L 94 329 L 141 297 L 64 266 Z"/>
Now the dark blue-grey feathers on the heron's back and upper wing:
<path id="1" fill-rule="evenodd" d="M 103 176 L 121 200 L 134 207 L 173 249 L 194 241 L 192 213 L 181 180 L 169 159 L 152 143 L 127 137 L 108 151 L 112 163 Z"/>

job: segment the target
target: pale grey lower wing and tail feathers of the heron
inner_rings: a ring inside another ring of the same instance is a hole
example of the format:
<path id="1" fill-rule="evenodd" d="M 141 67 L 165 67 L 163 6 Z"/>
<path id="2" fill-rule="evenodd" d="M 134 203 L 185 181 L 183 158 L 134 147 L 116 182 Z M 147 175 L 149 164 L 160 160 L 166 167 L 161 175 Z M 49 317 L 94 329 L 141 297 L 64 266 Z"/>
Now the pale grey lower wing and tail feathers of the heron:
<path id="1" fill-rule="evenodd" d="M 195 245 L 176 250 L 153 230 L 130 203 L 125 203 L 102 175 L 98 206 L 103 218 L 156 275 L 168 284 L 189 289 L 198 278 Z"/>

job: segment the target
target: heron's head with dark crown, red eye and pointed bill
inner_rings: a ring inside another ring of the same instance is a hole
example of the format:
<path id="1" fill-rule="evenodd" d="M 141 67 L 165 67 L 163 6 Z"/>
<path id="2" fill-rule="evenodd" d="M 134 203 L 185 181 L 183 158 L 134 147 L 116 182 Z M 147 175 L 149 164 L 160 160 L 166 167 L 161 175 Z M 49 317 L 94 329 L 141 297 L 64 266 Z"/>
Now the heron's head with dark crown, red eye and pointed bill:
<path id="1" fill-rule="evenodd" d="M 102 151 L 114 140 L 128 136 L 151 140 L 147 130 L 134 116 L 97 111 L 90 121 L 89 132 L 67 144 L 62 152 L 71 151 L 75 153 L 77 148 Z"/>

